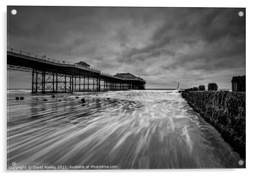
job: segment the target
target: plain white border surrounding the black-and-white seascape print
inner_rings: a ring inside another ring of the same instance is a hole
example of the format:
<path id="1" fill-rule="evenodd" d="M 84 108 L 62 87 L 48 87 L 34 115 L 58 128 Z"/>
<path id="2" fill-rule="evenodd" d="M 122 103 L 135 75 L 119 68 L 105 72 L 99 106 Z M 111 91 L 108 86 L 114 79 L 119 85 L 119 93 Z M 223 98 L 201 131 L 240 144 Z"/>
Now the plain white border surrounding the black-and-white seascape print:
<path id="1" fill-rule="evenodd" d="M 131 175 L 131 174 L 142 174 L 156 175 L 157 173 L 162 175 L 186 175 L 186 176 L 216 176 L 224 174 L 232 174 L 232 176 L 241 175 L 252 175 L 255 173 L 254 163 L 255 162 L 255 124 L 256 117 L 254 115 L 254 101 L 255 93 L 253 89 L 256 88 L 255 84 L 255 51 L 256 51 L 256 5 L 251 1 L 245 0 L 93 0 L 93 1 L 63 1 L 63 0 L 2 0 L 1 1 L 1 81 L 2 86 L 0 86 L 0 99 L 1 99 L 1 159 L 0 166 L 1 171 L 6 172 L 6 5 L 53 5 L 53 6 L 148 6 L 148 7 L 243 7 L 246 8 L 246 77 L 247 77 L 247 121 L 246 121 L 246 169 L 186 169 L 186 170 L 85 170 L 75 171 L 76 174 L 87 175 L 91 173 L 104 174 L 104 175 Z M 45 171 L 44 171 L 45 172 Z M 37 175 L 45 175 L 44 172 L 36 173 Z M 52 173 L 53 171 L 47 171 Z M 70 175 L 74 170 L 68 170 L 63 172 L 54 172 L 53 174 L 60 173 L 61 175 Z M 6 174 L 6 173 L 4 173 Z M 10 174 L 10 173 L 9 173 Z M 15 174 L 15 172 L 11 172 Z M 23 171 L 22 173 L 17 173 L 21 175 L 35 174 L 34 172 Z"/>

